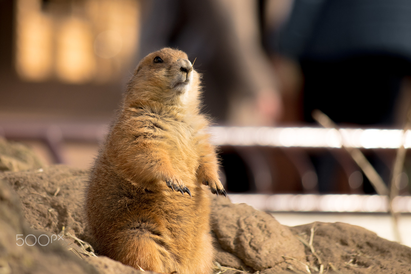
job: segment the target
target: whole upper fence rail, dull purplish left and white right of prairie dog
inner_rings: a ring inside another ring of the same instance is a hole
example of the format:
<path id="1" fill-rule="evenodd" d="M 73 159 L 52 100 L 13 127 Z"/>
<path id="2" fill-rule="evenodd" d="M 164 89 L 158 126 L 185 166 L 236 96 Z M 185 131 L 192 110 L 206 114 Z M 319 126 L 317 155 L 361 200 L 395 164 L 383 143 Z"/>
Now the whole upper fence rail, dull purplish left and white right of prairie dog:
<path id="1" fill-rule="evenodd" d="M 11 139 L 46 139 L 50 134 L 65 140 L 99 142 L 109 128 L 104 123 L 52 123 L 0 121 L 0 135 Z M 58 132 L 58 133 L 57 133 Z M 212 142 L 231 146 L 274 146 L 306 148 L 356 147 L 364 149 L 397 149 L 403 130 L 314 127 L 223 127 L 210 129 Z M 341 135 L 344 137 L 342 138 Z M 344 139 L 344 140 L 342 140 Z M 344 142 L 344 143 L 343 143 Z M 411 130 L 405 132 L 404 147 L 411 148 Z"/>

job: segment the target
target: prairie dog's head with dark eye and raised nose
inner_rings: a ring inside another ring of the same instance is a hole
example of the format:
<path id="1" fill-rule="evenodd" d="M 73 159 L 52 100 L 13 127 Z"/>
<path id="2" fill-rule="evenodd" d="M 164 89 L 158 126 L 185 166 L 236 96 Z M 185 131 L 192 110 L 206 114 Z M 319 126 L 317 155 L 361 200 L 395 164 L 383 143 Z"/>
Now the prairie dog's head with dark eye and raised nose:
<path id="1" fill-rule="evenodd" d="M 166 104 L 196 103 L 199 74 L 183 51 L 164 48 L 145 56 L 129 82 L 131 100 L 155 100 Z"/>

